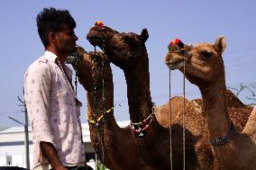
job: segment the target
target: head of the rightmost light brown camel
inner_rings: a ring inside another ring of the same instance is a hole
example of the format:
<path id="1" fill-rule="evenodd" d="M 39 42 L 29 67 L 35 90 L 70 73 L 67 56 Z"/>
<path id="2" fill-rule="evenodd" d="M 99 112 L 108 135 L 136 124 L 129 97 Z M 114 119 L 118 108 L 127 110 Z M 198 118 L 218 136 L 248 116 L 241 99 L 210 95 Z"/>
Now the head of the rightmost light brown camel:
<path id="1" fill-rule="evenodd" d="M 224 36 L 217 38 L 215 44 L 199 43 L 182 47 L 173 44 L 165 57 L 165 63 L 170 69 L 179 69 L 181 72 L 185 63 L 185 76 L 190 83 L 198 87 L 212 85 L 224 78 L 222 53 L 225 46 Z"/>

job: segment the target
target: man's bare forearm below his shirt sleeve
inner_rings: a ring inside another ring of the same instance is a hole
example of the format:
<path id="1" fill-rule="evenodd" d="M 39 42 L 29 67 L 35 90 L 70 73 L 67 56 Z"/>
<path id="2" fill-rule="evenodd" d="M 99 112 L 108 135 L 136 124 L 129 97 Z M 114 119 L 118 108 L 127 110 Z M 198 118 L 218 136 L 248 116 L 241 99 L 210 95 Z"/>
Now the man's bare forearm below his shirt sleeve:
<path id="1" fill-rule="evenodd" d="M 64 166 L 62 166 L 61 162 L 59 161 L 59 157 L 57 154 L 56 149 L 52 146 L 49 142 L 40 142 L 40 147 L 43 155 L 47 157 L 50 162 L 50 166 L 54 170 L 67 170 Z"/>

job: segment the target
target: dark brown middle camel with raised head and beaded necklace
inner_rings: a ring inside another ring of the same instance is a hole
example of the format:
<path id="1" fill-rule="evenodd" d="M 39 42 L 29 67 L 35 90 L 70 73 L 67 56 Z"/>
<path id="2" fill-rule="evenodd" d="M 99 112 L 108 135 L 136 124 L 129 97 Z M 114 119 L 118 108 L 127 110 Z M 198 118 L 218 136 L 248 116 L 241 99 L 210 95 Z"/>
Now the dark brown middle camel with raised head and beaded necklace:
<path id="1" fill-rule="evenodd" d="M 148 39 L 148 32 L 143 30 L 141 35 L 119 33 L 109 27 L 102 29 L 96 25 L 87 33 L 87 39 L 93 45 L 99 45 L 104 49 L 110 61 L 123 69 L 127 84 L 130 119 L 134 123 L 144 120 L 144 123 L 140 123 L 142 126 L 131 123 L 133 131 L 137 131 L 133 132 L 133 137 L 143 160 L 155 169 L 170 169 L 169 129 L 163 128 L 159 121 L 154 121 L 155 115 L 151 114 L 153 106 L 150 92 L 149 59 L 144 44 Z M 104 43 L 102 43 L 103 40 Z M 183 102 L 183 100 L 179 101 Z M 169 110 L 168 106 L 163 110 Z M 160 118 L 160 116 L 156 117 Z M 162 117 L 166 119 L 168 116 Z M 186 130 L 186 138 L 186 169 L 196 169 L 195 137 Z M 173 168 L 182 169 L 182 126 L 180 124 L 172 125 L 172 146 Z"/>

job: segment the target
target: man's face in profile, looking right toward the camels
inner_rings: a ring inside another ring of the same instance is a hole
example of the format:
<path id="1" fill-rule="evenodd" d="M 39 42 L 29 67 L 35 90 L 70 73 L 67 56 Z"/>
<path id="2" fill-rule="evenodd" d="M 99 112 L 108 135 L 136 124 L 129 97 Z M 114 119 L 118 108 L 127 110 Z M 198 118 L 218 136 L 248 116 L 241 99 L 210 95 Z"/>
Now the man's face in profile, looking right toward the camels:
<path id="1" fill-rule="evenodd" d="M 63 31 L 56 34 L 56 49 L 65 54 L 76 51 L 76 41 L 78 40 L 74 29 L 70 29 L 68 25 L 63 25 Z"/>

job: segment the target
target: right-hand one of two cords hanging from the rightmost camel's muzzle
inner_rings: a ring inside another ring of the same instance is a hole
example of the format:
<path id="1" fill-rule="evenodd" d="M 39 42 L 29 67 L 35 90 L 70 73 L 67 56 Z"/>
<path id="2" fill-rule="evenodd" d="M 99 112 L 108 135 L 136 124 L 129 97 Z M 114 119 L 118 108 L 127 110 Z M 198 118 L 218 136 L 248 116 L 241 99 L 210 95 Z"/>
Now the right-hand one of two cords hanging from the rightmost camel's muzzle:
<path id="1" fill-rule="evenodd" d="M 186 163 L 186 150 L 185 150 L 185 72 L 186 67 L 185 67 L 185 58 L 183 60 L 183 110 L 182 110 L 182 132 L 183 132 L 183 169 L 185 170 L 185 163 Z"/>

